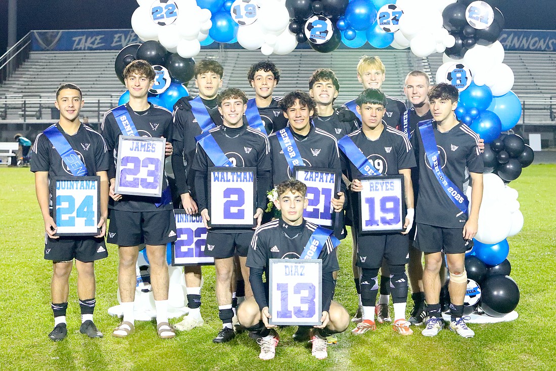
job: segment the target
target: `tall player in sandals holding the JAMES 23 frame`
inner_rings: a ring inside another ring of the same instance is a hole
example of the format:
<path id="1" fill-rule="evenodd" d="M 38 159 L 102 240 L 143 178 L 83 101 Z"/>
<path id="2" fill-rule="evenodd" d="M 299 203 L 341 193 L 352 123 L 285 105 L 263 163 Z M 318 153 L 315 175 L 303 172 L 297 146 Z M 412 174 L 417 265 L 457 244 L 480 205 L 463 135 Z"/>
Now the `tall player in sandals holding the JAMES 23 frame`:
<path id="1" fill-rule="evenodd" d="M 155 70 L 148 62 L 135 60 L 123 71 L 130 101 L 105 114 L 101 128 L 108 152 L 114 154 L 108 170 L 110 179 L 110 227 L 107 242 L 118 245 L 120 290 L 123 321 L 112 335 L 124 338 L 134 330 L 133 300 L 136 287 L 136 263 L 139 245 L 145 243 L 151 265 L 152 292 L 155 297 L 157 333 L 161 339 L 176 336 L 168 323 L 168 265 L 166 244 L 176 241 L 176 222 L 172 197 L 166 175 L 162 177 L 162 197 L 131 196 L 114 193 L 116 159 L 120 135 L 127 130 L 118 123 L 127 121 L 128 130 L 136 136 L 166 138 L 166 157 L 172 154 L 172 114 L 165 108 L 147 101 L 148 89 L 154 84 Z"/>

